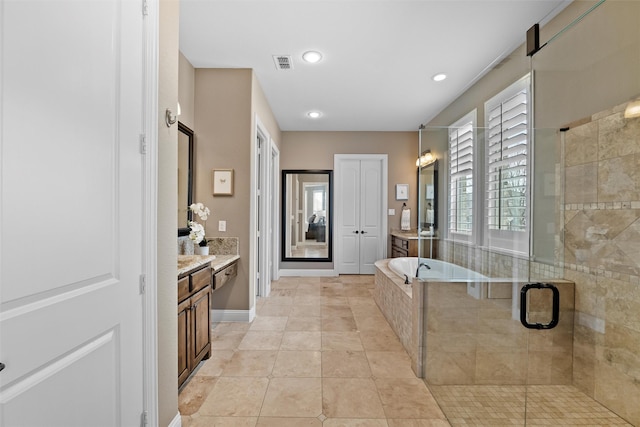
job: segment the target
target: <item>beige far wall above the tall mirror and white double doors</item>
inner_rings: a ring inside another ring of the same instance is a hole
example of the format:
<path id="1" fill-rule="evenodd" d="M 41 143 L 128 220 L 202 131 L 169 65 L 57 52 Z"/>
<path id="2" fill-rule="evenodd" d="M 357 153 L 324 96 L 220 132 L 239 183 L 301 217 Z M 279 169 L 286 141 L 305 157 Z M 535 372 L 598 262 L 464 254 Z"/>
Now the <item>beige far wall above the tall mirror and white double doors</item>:
<path id="1" fill-rule="evenodd" d="M 400 228 L 402 201 L 396 200 L 395 184 L 409 184 L 412 221 L 416 220 L 418 131 L 415 132 L 282 132 L 281 169 L 333 170 L 334 154 L 387 154 L 389 167 L 389 230 Z M 390 243 L 389 243 L 390 245 Z M 389 248 L 387 248 L 390 251 Z M 389 252 L 390 253 L 390 252 Z M 296 267 L 299 268 L 299 267 Z"/>

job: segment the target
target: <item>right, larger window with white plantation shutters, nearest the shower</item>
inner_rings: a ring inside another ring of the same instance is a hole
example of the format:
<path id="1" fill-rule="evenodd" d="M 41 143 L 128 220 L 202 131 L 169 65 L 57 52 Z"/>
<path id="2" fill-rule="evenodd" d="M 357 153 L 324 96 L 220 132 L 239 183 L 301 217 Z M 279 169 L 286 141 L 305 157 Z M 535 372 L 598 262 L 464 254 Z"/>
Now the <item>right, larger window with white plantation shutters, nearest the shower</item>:
<path id="1" fill-rule="evenodd" d="M 490 230 L 527 230 L 528 85 L 488 111 L 487 221 Z"/>

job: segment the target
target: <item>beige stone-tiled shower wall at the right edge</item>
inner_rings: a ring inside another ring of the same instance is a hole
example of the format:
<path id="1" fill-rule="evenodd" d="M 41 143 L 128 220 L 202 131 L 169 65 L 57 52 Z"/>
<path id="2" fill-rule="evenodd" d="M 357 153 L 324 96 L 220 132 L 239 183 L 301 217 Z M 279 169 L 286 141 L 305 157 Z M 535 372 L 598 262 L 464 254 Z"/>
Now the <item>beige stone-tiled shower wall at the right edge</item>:
<path id="1" fill-rule="evenodd" d="M 564 277 L 576 283 L 574 384 L 640 425 L 640 118 L 625 107 L 566 132 Z"/>

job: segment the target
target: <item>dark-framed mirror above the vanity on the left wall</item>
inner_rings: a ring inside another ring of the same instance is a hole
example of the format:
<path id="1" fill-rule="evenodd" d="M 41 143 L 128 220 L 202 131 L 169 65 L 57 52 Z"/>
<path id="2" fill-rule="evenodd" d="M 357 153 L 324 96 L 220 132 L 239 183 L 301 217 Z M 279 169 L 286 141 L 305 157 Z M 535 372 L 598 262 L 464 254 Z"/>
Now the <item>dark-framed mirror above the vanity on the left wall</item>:
<path id="1" fill-rule="evenodd" d="M 193 212 L 193 131 L 178 122 L 178 236 L 189 234 Z"/>

